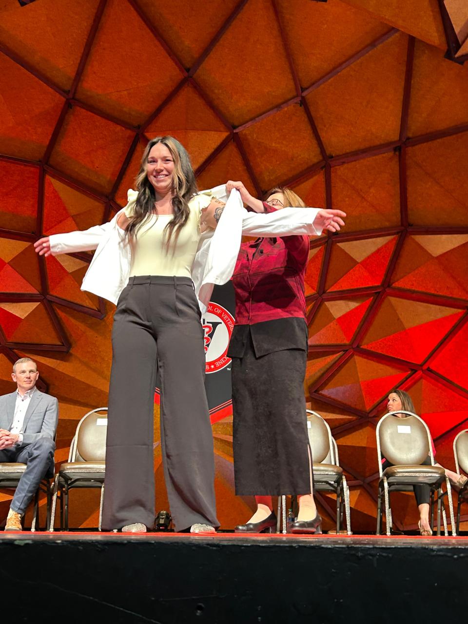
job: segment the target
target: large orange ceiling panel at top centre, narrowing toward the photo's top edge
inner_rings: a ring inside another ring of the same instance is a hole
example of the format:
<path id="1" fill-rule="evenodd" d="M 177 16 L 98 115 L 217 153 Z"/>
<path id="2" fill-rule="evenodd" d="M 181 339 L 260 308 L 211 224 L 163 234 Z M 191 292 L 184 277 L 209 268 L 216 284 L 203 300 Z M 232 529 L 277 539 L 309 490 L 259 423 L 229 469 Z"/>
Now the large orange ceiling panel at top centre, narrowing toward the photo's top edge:
<path id="1" fill-rule="evenodd" d="M 255 23 L 255 35 L 251 24 Z M 251 32 L 252 36 L 246 36 Z M 242 46 L 242 54 L 234 51 Z M 255 60 L 254 60 L 255 59 Z M 240 125 L 295 95 L 270 0 L 250 0 L 223 34 L 195 79 L 228 121 Z M 246 88 L 256 85 L 255 89 Z"/>

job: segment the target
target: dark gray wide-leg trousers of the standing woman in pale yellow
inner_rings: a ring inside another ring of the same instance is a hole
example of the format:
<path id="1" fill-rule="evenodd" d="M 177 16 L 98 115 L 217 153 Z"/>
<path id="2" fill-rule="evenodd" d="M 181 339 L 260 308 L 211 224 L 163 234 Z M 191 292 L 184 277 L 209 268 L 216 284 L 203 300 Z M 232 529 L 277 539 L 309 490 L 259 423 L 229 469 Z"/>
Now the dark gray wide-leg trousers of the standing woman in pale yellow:
<path id="1" fill-rule="evenodd" d="M 219 526 L 205 351 L 192 281 L 129 280 L 112 329 L 112 371 L 102 527 L 154 525 L 154 389 L 162 390 L 161 445 L 175 530 Z"/>

